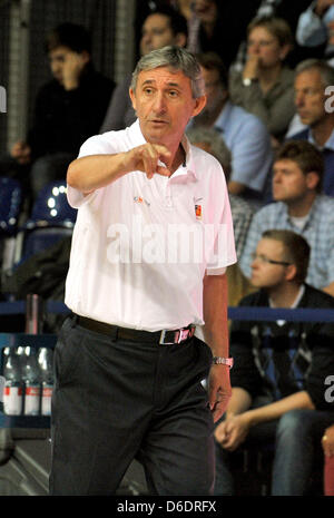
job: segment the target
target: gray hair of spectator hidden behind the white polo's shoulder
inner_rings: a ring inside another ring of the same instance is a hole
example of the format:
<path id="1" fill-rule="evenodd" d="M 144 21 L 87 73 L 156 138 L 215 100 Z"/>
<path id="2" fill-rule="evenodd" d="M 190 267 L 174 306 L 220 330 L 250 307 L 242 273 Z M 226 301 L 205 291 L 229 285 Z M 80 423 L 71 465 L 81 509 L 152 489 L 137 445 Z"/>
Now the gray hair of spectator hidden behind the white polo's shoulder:
<path id="1" fill-rule="evenodd" d="M 188 129 L 186 135 L 191 144 L 209 144 L 209 153 L 217 158 L 228 179 L 232 173 L 232 153 L 218 131 L 214 128 L 198 127 Z"/>

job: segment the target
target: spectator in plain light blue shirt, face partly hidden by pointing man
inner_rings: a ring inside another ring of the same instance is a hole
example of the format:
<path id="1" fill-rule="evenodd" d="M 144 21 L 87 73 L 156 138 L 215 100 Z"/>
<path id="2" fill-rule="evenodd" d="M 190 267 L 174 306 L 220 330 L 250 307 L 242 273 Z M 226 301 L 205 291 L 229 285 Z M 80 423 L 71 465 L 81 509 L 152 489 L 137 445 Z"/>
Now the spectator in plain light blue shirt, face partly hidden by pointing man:
<path id="1" fill-rule="evenodd" d="M 215 53 L 198 56 L 207 102 L 194 117 L 188 129 L 204 126 L 214 128 L 232 153 L 230 194 L 262 203 L 272 166 L 269 133 L 265 125 L 244 108 L 228 99 L 228 78 L 220 58 Z"/>

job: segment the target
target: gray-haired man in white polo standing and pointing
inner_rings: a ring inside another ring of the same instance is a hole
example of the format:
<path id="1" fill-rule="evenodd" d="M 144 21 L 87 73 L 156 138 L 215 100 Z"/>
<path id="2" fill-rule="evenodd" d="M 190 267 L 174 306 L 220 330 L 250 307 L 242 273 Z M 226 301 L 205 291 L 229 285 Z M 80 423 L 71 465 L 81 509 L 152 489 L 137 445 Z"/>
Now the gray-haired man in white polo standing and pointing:
<path id="1" fill-rule="evenodd" d="M 112 495 L 140 456 L 149 493 L 209 495 L 233 364 L 226 182 L 184 136 L 206 102 L 193 55 L 144 56 L 129 95 L 138 119 L 89 138 L 67 175 L 78 217 L 72 314 L 55 353 L 50 492 Z"/>

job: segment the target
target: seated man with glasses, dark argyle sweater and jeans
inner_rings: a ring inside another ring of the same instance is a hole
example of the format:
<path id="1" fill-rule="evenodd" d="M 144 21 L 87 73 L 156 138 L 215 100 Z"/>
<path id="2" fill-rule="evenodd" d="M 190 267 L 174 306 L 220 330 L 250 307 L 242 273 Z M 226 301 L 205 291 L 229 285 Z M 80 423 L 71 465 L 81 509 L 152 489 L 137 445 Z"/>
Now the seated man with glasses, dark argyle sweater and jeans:
<path id="1" fill-rule="evenodd" d="M 267 231 L 257 243 L 252 283 L 242 306 L 334 309 L 334 299 L 305 284 L 310 246 L 291 231 Z M 215 429 L 216 495 L 233 495 L 229 469 L 240 444 L 272 444 L 272 495 L 307 493 L 314 448 L 333 422 L 324 379 L 334 372 L 334 325 L 320 322 L 234 321 L 232 398 Z"/>

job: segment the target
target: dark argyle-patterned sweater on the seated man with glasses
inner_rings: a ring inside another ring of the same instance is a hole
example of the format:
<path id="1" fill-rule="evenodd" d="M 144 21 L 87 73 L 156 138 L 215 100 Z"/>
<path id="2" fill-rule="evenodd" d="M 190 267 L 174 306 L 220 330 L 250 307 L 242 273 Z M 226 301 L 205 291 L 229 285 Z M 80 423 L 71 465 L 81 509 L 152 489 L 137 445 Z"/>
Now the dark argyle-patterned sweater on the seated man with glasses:
<path id="1" fill-rule="evenodd" d="M 267 307 L 268 296 L 261 290 L 239 305 Z M 334 310 L 334 297 L 306 284 L 297 307 Z M 274 400 L 306 390 L 317 410 L 334 411 L 324 397 L 325 380 L 334 373 L 334 322 L 234 321 L 230 355 L 232 387 Z"/>

